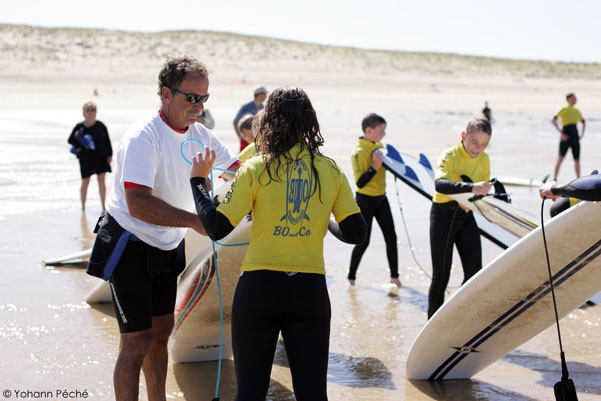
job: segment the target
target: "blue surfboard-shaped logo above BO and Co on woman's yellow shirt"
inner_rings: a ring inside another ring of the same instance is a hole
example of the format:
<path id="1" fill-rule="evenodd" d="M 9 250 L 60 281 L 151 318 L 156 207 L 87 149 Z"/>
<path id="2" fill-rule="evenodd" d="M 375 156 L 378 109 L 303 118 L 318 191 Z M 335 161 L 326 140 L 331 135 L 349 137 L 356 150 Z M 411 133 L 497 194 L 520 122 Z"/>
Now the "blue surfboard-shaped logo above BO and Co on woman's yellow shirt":
<path id="1" fill-rule="evenodd" d="M 296 225 L 304 219 L 309 220 L 306 213 L 312 187 L 313 171 L 302 159 L 295 160 L 286 173 L 286 214 L 280 221 L 287 220 Z"/>

